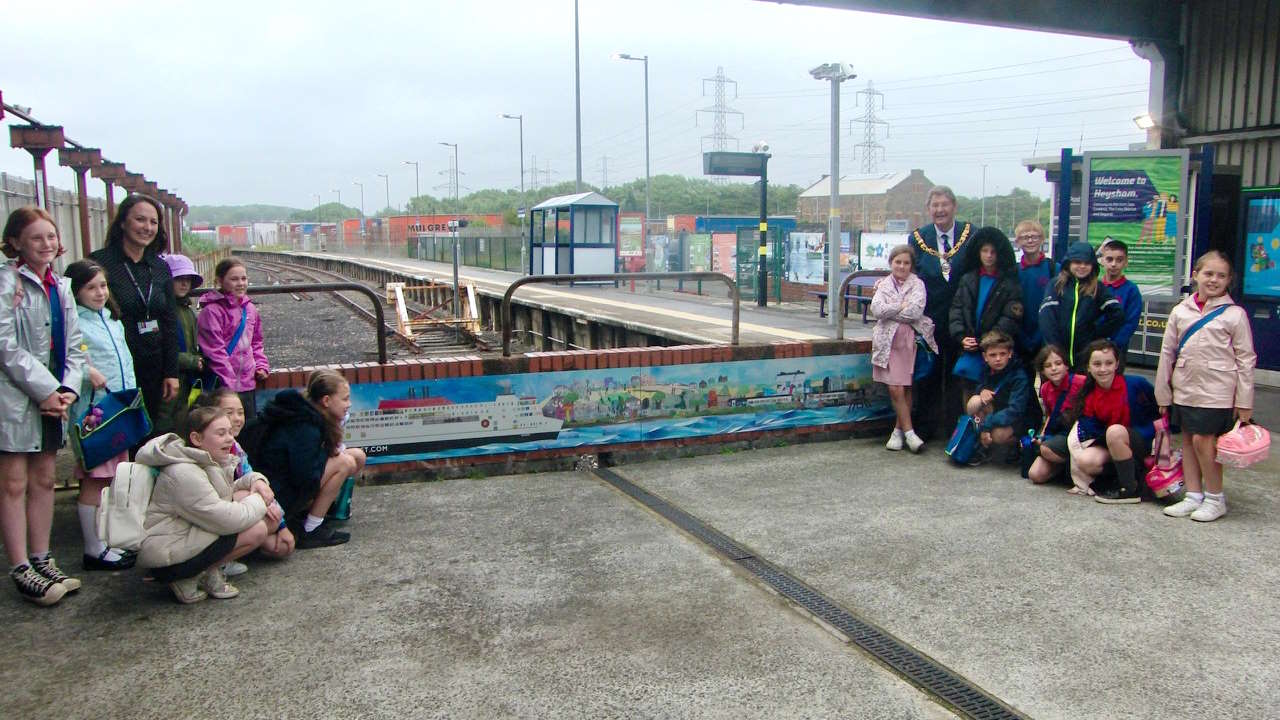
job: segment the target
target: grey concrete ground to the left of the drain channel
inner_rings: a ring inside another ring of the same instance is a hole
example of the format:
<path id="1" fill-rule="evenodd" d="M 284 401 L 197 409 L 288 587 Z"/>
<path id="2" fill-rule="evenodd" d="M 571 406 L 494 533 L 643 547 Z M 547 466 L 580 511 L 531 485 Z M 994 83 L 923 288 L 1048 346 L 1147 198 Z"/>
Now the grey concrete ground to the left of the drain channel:
<path id="1" fill-rule="evenodd" d="M 5 587 L 0 717 L 948 717 L 591 475 L 358 488 L 349 544 L 179 606 Z M 55 553 L 79 569 L 74 498 Z"/>

